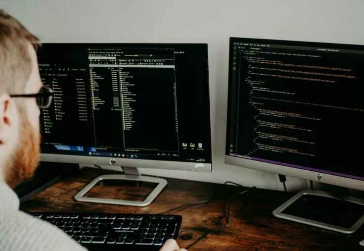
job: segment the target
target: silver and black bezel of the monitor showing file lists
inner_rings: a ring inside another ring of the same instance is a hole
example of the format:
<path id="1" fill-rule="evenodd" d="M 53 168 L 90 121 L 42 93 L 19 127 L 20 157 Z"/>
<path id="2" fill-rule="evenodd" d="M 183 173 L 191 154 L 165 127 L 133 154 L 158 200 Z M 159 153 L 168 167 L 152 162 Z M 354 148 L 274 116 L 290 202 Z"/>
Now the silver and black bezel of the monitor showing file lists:
<path id="1" fill-rule="evenodd" d="M 76 163 L 76 164 L 91 164 L 91 165 L 107 165 L 107 166 L 126 166 L 136 168 L 153 168 L 153 169 L 167 169 L 167 170 L 180 170 L 180 171 L 199 171 L 199 172 L 212 172 L 212 139 L 211 139 L 211 105 L 210 105 L 210 81 L 209 81 L 209 54 L 208 45 L 206 43 L 43 43 L 44 45 L 62 45 L 62 44 L 75 44 L 75 45 L 107 45 L 107 46 L 204 46 L 206 50 L 206 76 L 207 76 L 207 103 L 209 106 L 209 153 L 211 163 L 206 162 L 184 162 L 173 160 L 151 160 L 151 159 L 131 159 L 113 157 L 100 157 L 100 156 L 85 156 L 85 155 L 68 155 L 68 154 L 53 154 L 53 153 L 40 153 L 40 161 L 46 162 L 59 162 L 59 163 Z"/>

